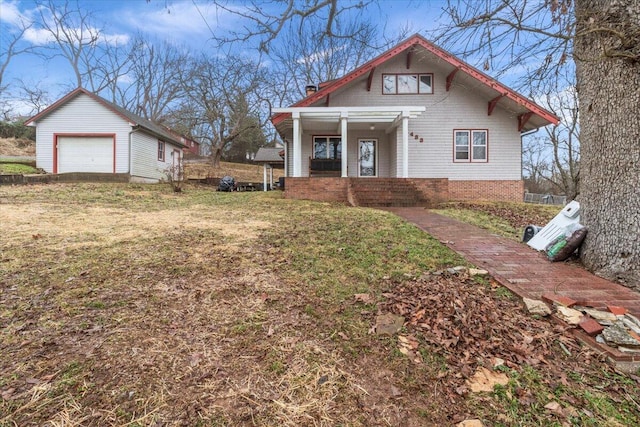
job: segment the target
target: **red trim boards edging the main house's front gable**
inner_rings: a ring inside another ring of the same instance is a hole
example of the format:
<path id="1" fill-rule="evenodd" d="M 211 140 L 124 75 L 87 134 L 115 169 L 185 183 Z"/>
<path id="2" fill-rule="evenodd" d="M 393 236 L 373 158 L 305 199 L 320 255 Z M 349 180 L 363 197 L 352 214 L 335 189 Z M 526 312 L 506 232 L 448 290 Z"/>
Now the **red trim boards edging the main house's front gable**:
<path id="1" fill-rule="evenodd" d="M 495 89 L 496 91 L 498 91 L 501 94 L 504 94 L 505 97 L 511 99 L 512 101 L 517 102 L 518 104 L 520 104 L 523 107 L 527 108 L 530 112 L 533 112 L 534 114 L 542 117 L 543 119 L 545 119 L 545 120 L 547 120 L 547 121 L 549 121 L 549 122 L 551 122 L 553 124 L 557 124 L 560 121 L 560 119 L 555 114 L 553 114 L 550 111 L 542 108 L 541 106 L 539 106 L 535 102 L 530 101 L 529 99 L 525 98 L 524 96 L 520 95 L 519 93 L 515 92 L 514 90 L 512 90 L 512 89 L 508 88 L 507 86 L 503 85 L 502 83 L 498 82 L 494 78 L 489 77 L 488 75 L 484 74 L 482 71 L 478 70 L 475 67 L 472 67 L 471 65 L 469 65 L 466 62 L 462 61 L 461 59 L 455 57 L 454 55 L 452 55 L 451 53 L 445 51 L 444 49 L 441 49 L 441 48 L 437 47 L 436 45 L 434 45 L 433 43 L 429 42 L 427 39 L 425 39 L 424 37 L 422 37 L 419 34 L 415 34 L 412 37 L 408 38 L 407 40 L 399 43 L 395 47 L 392 47 L 388 51 L 384 52 L 382 55 L 370 60 L 369 62 L 365 63 L 364 65 L 360 66 L 359 68 L 356 68 L 352 72 L 347 73 L 341 79 L 337 79 L 337 80 L 332 81 L 331 83 L 327 84 L 325 87 L 323 87 L 322 89 L 320 89 L 319 91 L 317 91 L 313 95 L 310 95 L 310 96 L 302 99 L 301 101 L 298 101 L 297 103 L 293 104 L 292 107 L 307 107 L 307 106 L 309 106 L 309 105 L 321 100 L 323 97 L 327 96 L 329 93 L 340 89 L 341 87 L 343 87 L 347 83 L 349 83 L 349 82 L 361 77 L 362 75 L 370 72 L 372 68 L 375 68 L 378 65 L 388 61 L 389 59 L 395 57 L 396 55 L 398 55 L 398 54 L 400 54 L 402 52 L 404 52 L 405 50 L 411 48 L 414 45 L 420 45 L 420 46 L 424 47 L 427 51 L 429 51 L 432 54 L 436 55 L 438 58 L 443 59 L 444 61 L 446 61 L 447 63 L 449 63 L 453 67 L 455 67 L 456 69 L 459 69 L 459 70 L 463 71 L 464 73 L 466 73 L 466 74 L 470 75 L 471 77 L 475 78 L 476 80 L 484 83 L 485 85 L 489 86 L 490 88 Z M 288 115 L 289 115 L 288 113 L 276 114 L 271 119 L 271 122 L 274 124 L 274 126 L 277 126 Z"/>

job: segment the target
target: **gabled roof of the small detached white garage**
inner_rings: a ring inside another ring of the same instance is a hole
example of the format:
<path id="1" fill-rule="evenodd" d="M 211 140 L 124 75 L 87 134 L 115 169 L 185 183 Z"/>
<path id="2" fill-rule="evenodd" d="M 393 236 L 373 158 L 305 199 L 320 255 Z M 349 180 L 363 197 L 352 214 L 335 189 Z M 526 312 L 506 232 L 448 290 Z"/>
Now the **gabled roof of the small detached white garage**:
<path id="1" fill-rule="evenodd" d="M 128 121 L 132 126 L 134 127 L 137 126 L 140 129 L 145 130 L 148 133 L 151 133 L 156 137 L 165 140 L 166 142 L 171 142 L 172 144 L 178 145 L 180 147 L 186 147 L 186 145 L 182 143 L 181 136 L 179 134 L 173 132 L 170 129 L 165 128 L 164 126 L 161 126 L 157 123 L 147 120 L 144 117 L 134 114 L 131 111 L 128 111 L 120 107 L 119 105 L 114 104 L 113 102 L 107 101 L 106 99 L 96 95 L 95 93 L 89 92 L 88 90 L 81 87 L 69 92 L 68 94 L 66 94 L 65 96 L 63 96 L 62 98 L 54 102 L 53 104 L 51 104 L 49 107 L 45 108 L 35 116 L 31 117 L 29 120 L 25 122 L 25 124 L 29 125 L 29 124 L 36 123 L 38 120 L 42 120 L 43 118 L 47 117 L 49 114 L 53 113 L 58 108 L 62 107 L 63 105 L 65 105 L 72 99 L 75 99 L 76 97 L 80 96 L 81 94 L 85 94 L 91 99 L 93 99 L 94 101 L 102 104 L 105 108 L 111 110 L 115 114 L 122 117 L 122 119 Z"/>

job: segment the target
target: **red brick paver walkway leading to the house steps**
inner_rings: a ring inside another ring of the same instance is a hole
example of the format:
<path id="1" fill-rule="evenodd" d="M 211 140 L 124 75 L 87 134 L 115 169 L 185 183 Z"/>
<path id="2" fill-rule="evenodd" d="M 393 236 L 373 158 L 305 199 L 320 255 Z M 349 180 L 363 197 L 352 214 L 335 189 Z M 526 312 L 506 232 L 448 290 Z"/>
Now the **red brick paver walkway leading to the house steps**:
<path id="1" fill-rule="evenodd" d="M 386 210 L 441 240 L 521 297 L 540 299 L 545 293 L 556 293 L 593 307 L 622 306 L 640 317 L 640 293 L 576 265 L 549 262 L 542 252 L 524 243 L 490 234 L 421 207 Z"/>

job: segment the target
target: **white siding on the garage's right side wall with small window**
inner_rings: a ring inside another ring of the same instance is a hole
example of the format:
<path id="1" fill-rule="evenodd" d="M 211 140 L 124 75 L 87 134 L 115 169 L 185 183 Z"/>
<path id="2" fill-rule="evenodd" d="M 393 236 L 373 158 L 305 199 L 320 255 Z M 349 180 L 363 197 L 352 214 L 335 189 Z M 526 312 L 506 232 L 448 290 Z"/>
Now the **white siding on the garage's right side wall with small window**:
<path id="1" fill-rule="evenodd" d="M 175 145 L 165 142 L 164 161 L 158 160 L 158 138 L 142 131 L 131 134 L 131 176 L 153 181 L 163 180 L 172 166 L 171 153 L 180 150 Z M 182 154 L 180 154 L 182 156 Z"/>

